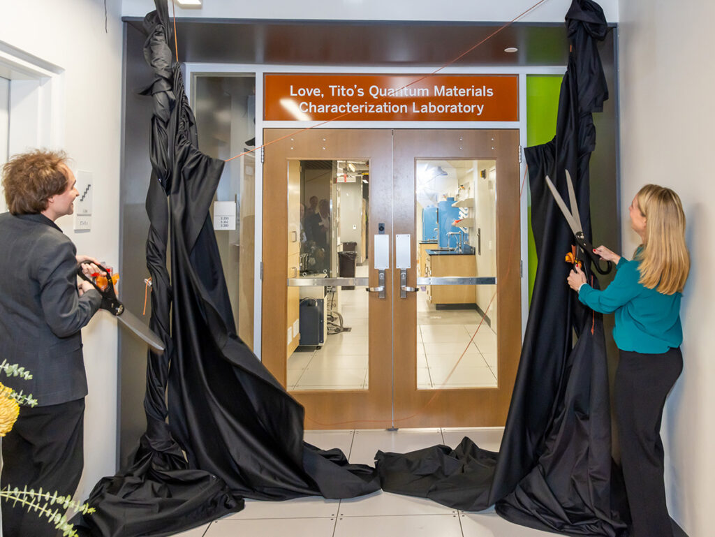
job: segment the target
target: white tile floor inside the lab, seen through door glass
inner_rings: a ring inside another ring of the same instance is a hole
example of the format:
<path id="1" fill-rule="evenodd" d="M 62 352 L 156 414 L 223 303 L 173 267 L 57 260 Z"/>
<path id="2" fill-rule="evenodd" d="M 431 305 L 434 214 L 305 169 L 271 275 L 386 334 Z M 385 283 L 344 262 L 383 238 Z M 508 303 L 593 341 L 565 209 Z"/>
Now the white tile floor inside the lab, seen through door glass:
<path id="1" fill-rule="evenodd" d="M 358 277 L 367 272 L 356 267 Z M 296 350 L 288 359 L 289 390 L 368 389 L 368 293 L 341 290 L 337 301 L 350 332 L 328 335 L 320 349 Z M 418 293 L 419 389 L 497 386 L 496 334 L 480 319 L 474 310 L 437 310 Z"/>

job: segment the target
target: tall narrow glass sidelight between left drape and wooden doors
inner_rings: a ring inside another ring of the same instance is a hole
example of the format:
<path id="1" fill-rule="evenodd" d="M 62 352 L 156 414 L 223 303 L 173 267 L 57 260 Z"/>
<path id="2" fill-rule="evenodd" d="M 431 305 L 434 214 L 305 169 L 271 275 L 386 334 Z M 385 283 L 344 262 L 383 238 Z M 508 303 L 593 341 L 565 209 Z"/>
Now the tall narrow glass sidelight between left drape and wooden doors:
<path id="1" fill-rule="evenodd" d="M 202 152 L 225 160 L 255 148 L 255 75 L 196 77 L 194 96 Z M 235 204 L 235 222 L 228 230 L 217 230 L 216 240 L 237 334 L 252 349 L 256 225 L 254 153 L 226 163 L 216 201 Z"/>

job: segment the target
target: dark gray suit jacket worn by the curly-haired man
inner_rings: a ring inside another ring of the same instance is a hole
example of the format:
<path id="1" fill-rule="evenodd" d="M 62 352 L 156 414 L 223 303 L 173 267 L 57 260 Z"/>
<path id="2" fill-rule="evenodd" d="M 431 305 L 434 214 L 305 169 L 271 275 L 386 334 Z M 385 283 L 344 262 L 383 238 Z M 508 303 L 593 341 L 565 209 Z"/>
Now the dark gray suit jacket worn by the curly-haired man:
<path id="1" fill-rule="evenodd" d="M 74 244 L 44 215 L 0 215 L 0 363 L 19 363 L 32 380 L 0 381 L 41 406 L 87 395 L 80 328 L 102 297 L 77 292 Z"/>

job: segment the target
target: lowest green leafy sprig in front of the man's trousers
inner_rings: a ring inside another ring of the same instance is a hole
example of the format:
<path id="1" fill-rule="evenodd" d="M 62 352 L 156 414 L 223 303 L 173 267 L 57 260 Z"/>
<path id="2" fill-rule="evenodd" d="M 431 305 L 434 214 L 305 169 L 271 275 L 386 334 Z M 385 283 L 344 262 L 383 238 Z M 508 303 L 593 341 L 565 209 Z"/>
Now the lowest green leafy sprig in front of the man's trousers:
<path id="1" fill-rule="evenodd" d="M 67 509 L 71 508 L 75 513 L 94 513 L 95 509 L 89 507 L 87 503 L 77 503 L 72 501 L 71 496 L 58 496 L 55 493 L 43 492 L 42 489 L 34 491 L 27 490 L 25 487 L 22 491 L 19 488 L 11 488 L 7 486 L 0 491 L 0 498 L 11 502 L 13 506 L 21 506 L 28 511 L 34 511 L 40 518 L 47 518 L 49 523 L 54 524 L 54 527 L 62 532 L 64 537 L 77 537 L 77 531 L 74 530 L 65 516 Z"/>

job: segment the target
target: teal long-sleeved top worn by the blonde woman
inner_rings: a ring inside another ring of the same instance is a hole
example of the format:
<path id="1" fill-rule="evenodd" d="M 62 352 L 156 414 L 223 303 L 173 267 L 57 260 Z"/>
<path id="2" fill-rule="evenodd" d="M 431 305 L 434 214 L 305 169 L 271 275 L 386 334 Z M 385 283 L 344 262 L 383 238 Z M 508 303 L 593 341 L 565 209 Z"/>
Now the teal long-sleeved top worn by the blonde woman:
<path id="1" fill-rule="evenodd" d="M 679 292 L 664 295 L 638 283 L 641 277 L 638 265 L 637 260 L 621 257 L 611 285 L 603 291 L 588 284 L 581 285 L 578 300 L 597 312 L 615 312 L 613 339 L 619 349 L 644 354 L 665 353 L 683 342 L 682 295 Z"/>

